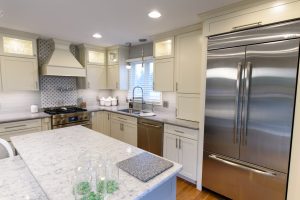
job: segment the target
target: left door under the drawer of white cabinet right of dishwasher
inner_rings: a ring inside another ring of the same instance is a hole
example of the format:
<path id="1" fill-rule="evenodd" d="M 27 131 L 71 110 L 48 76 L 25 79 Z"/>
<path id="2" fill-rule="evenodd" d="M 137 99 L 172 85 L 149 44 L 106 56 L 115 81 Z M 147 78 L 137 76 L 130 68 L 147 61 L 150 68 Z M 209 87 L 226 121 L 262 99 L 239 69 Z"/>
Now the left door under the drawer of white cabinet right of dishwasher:
<path id="1" fill-rule="evenodd" d="M 164 135 L 164 157 L 178 162 L 178 136 L 169 133 Z"/>

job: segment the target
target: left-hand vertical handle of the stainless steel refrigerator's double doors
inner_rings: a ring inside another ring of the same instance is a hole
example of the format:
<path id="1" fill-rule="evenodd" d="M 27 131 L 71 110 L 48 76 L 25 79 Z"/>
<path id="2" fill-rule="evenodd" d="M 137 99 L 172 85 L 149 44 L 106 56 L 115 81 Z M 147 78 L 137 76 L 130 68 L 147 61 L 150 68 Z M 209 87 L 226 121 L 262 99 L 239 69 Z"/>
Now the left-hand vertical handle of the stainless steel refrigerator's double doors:
<path id="1" fill-rule="evenodd" d="M 234 132 L 233 144 L 238 143 L 238 122 L 239 122 L 239 105 L 240 105 L 240 85 L 241 85 L 242 63 L 238 63 L 237 80 L 236 80 L 236 97 L 235 97 L 235 116 L 234 116 Z"/>

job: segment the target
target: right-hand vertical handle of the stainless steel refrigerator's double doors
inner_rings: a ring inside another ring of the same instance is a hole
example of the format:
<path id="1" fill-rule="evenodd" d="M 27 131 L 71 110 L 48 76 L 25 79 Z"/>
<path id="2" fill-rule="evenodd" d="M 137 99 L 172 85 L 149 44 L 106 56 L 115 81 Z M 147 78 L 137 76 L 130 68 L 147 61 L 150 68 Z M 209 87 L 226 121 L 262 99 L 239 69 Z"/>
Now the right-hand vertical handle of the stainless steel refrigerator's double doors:
<path id="1" fill-rule="evenodd" d="M 246 86 L 245 86 L 245 102 L 244 102 L 244 114 L 243 114 L 243 138 L 242 138 L 242 145 L 247 145 L 247 125 L 248 125 L 248 104 L 249 104 L 249 92 L 250 92 L 250 80 L 252 74 L 252 63 L 247 62 L 246 67 Z"/>

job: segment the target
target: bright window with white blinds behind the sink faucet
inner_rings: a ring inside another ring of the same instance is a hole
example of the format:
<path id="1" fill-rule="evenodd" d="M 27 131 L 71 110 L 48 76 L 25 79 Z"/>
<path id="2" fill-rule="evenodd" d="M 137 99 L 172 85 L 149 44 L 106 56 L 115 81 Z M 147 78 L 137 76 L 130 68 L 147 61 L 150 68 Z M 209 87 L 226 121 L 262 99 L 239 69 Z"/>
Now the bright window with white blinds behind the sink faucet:
<path id="1" fill-rule="evenodd" d="M 129 91 L 128 96 L 132 98 L 133 88 L 140 86 L 144 91 L 144 101 L 146 102 L 161 102 L 161 93 L 153 91 L 153 62 L 144 62 L 142 66 L 141 62 L 131 63 L 131 69 L 129 70 Z M 141 90 L 135 90 L 135 96 L 141 97 Z"/>

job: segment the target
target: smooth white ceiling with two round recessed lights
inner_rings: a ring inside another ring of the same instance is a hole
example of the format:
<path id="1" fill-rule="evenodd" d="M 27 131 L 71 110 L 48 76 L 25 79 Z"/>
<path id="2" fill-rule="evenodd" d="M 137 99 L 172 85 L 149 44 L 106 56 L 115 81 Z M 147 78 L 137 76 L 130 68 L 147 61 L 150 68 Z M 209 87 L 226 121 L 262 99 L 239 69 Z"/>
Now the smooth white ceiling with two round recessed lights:
<path id="1" fill-rule="evenodd" d="M 95 45 L 139 38 L 195 24 L 198 14 L 240 0 L 0 0 L 0 26 Z M 150 19 L 157 9 L 162 17 Z M 103 38 L 96 40 L 92 34 Z"/>

